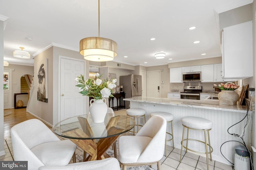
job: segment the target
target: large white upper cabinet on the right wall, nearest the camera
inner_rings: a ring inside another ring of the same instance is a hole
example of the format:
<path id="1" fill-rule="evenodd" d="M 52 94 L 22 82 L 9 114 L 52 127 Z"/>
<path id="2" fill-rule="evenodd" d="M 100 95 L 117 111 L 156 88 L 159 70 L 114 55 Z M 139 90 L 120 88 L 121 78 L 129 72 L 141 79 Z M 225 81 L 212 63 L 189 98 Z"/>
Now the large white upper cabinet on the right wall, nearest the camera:
<path id="1" fill-rule="evenodd" d="M 223 28 L 222 71 L 224 79 L 253 76 L 252 21 Z"/>

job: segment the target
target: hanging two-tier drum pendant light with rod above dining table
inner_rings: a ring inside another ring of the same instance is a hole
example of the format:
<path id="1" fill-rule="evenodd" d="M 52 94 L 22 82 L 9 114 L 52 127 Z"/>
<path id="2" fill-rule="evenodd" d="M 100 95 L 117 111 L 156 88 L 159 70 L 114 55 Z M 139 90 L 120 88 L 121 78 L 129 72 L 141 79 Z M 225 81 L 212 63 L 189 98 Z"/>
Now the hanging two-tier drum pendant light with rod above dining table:
<path id="1" fill-rule="evenodd" d="M 98 0 L 98 37 L 80 40 L 80 54 L 89 61 L 111 61 L 117 55 L 117 43 L 100 37 L 100 0 Z"/>

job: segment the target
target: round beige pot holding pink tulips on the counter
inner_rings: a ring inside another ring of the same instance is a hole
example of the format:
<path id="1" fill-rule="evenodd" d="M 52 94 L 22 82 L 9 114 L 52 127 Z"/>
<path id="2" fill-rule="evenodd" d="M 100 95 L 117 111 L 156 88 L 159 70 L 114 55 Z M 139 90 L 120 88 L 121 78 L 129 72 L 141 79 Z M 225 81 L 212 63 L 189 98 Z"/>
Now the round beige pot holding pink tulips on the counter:
<path id="1" fill-rule="evenodd" d="M 222 90 L 218 98 L 220 105 L 236 105 L 239 95 L 234 90 Z"/>

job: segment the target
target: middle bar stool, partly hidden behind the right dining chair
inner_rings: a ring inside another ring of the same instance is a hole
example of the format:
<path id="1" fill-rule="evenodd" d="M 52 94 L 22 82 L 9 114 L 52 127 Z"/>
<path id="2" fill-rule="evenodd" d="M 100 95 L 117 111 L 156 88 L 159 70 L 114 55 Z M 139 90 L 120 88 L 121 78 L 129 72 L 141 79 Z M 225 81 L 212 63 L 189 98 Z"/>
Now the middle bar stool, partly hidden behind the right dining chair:
<path id="1" fill-rule="evenodd" d="M 172 129 L 172 121 L 173 121 L 173 115 L 171 113 L 166 113 L 166 112 L 152 112 L 150 113 L 150 117 L 154 116 L 154 115 L 159 115 L 162 116 L 165 120 L 166 123 L 171 123 L 171 130 L 172 133 L 167 132 L 166 130 L 166 136 L 165 136 L 165 156 L 167 157 L 167 141 L 171 141 L 172 140 L 172 146 L 174 148 L 174 140 L 173 140 L 173 129 Z M 172 138 L 167 140 L 167 134 L 169 134 Z"/>

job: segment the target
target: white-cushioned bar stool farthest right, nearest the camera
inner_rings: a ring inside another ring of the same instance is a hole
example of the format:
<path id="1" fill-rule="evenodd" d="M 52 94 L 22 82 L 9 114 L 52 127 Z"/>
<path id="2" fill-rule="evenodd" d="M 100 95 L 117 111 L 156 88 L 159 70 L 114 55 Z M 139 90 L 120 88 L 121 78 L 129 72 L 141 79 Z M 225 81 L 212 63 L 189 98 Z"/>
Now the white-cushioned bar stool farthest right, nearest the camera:
<path id="1" fill-rule="evenodd" d="M 187 150 L 190 150 L 192 152 L 196 152 L 196 153 L 200 153 L 200 154 L 206 154 L 206 163 L 207 163 L 207 170 L 209 170 L 209 162 L 208 162 L 208 154 L 210 154 L 210 160 L 212 161 L 212 151 L 213 148 L 210 144 L 210 135 L 209 135 L 209 131 L 212 129 L 212 122 L 209 121 L 208 119 L 204 119 L 201 117 L 182 117 L 181 119 L 181 123 L 183 126 L 183 134 L 182 134 L 182 141 L 181 143 L 181 152 L 180 152 L 180 162 L 182 159 L 182 148 L 186 148 L 186 153 Z M 185 128 L 187 128 L 187 138 L 184 139 L 184 132 L 185 132 Z M 198 131 L 204 131 L 204 141 L 201 140 L 197 140 L 197 139 L 189 139 L 188 138 L 188 130 L 198 130 Z M 207 135 L 208 135 L 208 143 L 207 143 Z M 184 140 L 186 140 L 186 146 L 183 145 Z M 205 152 L 199 152 L 196 150 L 192 150 L 188 148 L 188 140 L 194 140 L 194 141 L 198 141 L 198 142 L 202 142 L 205 144 Z M 209 150 L 208 150 L 209 147 Z"/>

